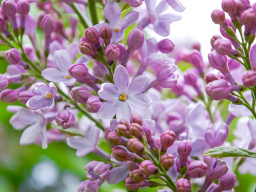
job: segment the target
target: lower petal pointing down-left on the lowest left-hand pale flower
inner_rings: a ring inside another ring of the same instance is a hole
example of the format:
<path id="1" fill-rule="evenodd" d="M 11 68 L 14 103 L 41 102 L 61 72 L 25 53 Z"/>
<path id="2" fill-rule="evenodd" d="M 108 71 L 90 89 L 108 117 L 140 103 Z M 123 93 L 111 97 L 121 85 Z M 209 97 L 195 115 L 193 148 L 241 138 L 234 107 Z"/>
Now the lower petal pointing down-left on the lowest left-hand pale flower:
<path id="1" fill-rule="evenodd" d="M 34 143 L 42 132 L 42 125 L 40 122 L 31 125 L 28 127 L 23 133 L 20 138 L 20 145 L 29 145 Z"/>

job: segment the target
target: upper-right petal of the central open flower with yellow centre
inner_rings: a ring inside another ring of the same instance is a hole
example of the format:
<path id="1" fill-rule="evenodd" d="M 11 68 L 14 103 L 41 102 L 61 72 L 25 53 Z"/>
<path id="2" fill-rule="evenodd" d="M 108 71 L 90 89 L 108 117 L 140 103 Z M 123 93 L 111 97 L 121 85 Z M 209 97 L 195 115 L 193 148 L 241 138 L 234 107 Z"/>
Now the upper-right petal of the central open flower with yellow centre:
<path id="1" fill-rule="evenodd" d="M 129 95 L 136 95 L 138 93 L 144 92 L 148 87 L 148 77 L 141 75 L 132 80 L 128 87 Z"/>

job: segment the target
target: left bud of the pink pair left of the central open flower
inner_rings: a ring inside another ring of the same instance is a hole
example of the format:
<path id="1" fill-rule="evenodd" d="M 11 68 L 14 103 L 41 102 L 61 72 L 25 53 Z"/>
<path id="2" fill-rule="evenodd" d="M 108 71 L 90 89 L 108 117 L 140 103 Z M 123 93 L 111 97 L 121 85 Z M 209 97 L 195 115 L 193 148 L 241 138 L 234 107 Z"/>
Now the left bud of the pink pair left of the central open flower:
<path id="1" fill-rule="evenodd" d="M 71 89 L 71 97 L 81 104 L 86 103 L 87 99 L 91 97 L 91 93 L 85 86 L 75 86 Z"/>

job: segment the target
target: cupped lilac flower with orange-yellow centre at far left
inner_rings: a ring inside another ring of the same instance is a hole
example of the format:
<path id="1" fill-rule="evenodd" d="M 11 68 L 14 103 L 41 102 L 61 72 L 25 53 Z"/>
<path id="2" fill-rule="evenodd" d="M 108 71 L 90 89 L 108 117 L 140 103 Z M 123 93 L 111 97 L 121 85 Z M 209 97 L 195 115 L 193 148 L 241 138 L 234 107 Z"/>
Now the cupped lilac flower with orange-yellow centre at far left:
<path id="1" fill-rule="evenodd" d="M 57 93 L 57 88 L 54 83 L 47 84 L 39 82 L 31 86 L 31 91 L 35 95 L 31 97 L 26 106 L 31 110 L 36 109 L 52 109 L 54 107 L 54 97 Z"/>

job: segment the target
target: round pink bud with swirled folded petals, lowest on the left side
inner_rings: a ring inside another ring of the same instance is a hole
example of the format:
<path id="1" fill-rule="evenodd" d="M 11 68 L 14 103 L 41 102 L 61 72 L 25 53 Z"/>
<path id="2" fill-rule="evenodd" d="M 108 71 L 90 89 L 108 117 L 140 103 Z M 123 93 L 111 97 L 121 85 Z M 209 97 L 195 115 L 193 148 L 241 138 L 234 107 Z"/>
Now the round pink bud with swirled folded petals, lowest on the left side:
<path id="1" fill-rule="evenodd" d="M 75 116 L 67 109 L 64 109 L 55 116 L 55 121 L 62 129 L 68 129 L 75 124 Z"/>

